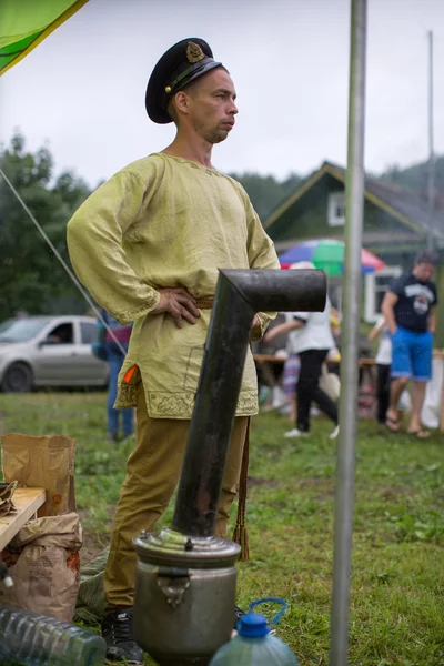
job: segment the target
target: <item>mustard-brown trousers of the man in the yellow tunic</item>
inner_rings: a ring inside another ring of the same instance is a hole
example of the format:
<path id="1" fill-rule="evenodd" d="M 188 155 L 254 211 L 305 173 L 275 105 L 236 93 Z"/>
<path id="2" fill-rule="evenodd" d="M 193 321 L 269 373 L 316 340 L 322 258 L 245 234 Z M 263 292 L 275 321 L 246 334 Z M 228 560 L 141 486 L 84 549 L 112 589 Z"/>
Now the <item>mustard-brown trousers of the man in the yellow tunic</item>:
<path id="1" fill-rule="evenodd" d="M 236 417 L 231 437 L 215 534 L 226 537 L 229 511 L 236 496 L 248 417 Z M 138 390 L 135 447 L 117 505 L 104 572 L 109 610 L 133 605 L 137 553 L 132 539 L 152 531 L 180 478 L 190 421 L 150 418 L 142 384 Z"/>

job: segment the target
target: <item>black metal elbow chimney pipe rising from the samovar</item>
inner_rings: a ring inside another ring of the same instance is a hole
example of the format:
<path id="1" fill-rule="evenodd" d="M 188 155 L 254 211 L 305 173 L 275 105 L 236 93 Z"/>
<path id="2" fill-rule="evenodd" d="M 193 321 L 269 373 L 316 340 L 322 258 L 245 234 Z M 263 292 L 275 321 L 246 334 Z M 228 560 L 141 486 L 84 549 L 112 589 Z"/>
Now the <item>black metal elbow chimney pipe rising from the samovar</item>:
<path id="1" fill-rule="evenodd" d="M 325 295 L 323 271 L 220 272 L 172 521 L 176 532 L 213 534 L 254 313 L 322 312 Z"/>

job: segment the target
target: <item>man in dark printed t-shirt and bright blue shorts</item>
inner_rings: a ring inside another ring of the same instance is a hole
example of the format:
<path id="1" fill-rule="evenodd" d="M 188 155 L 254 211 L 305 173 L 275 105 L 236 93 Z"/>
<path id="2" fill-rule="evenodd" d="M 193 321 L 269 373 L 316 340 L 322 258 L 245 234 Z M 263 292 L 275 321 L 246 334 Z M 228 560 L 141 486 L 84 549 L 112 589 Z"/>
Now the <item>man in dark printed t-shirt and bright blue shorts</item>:
<path id="1" fill-rule="evenodd" d="M 385 294 L 382 312 L 392 334 L 392 385 L 386 425 L 400 430 L 398 402 L 413 380 L 411 420 L 407 433 L 428 437 L 421 427 L 421 411 L 425 386 L 432 379 L 432 351 L 435 333 L 436 287 L 432 275 L 438 263 L 435 252 L 423 251 L 416 256 L 411 273 L 397 278 Z"/>

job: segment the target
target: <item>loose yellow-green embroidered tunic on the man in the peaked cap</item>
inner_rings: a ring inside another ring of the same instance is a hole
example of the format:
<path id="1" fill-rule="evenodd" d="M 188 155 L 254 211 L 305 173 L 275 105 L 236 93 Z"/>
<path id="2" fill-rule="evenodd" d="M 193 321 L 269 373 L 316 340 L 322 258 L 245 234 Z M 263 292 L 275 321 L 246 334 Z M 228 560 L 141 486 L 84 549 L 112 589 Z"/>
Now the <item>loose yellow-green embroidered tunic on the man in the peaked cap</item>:
<path id="1" fill-rule="evenodd" d="M 140 380 L 148 413 L 191 418 L 211 311 L 178 329 L 171 315 L 150 314 L 157 289 L 185 287 L 195 299 L 213 297 L 218 269 L 279 269 L 243 188 L 196 162 L 154 153 L 101 185 L 68 224 L 68 248 L 81 282 L 121 323 L 134 321 L 119 376 L 117 407 L 135 404 Z M 262 332 L 269 321 L 260 314 Z M 130 382 L 129 367 L 137 365 Z M 238 416 L 258 412 L 251 352 Z"/>

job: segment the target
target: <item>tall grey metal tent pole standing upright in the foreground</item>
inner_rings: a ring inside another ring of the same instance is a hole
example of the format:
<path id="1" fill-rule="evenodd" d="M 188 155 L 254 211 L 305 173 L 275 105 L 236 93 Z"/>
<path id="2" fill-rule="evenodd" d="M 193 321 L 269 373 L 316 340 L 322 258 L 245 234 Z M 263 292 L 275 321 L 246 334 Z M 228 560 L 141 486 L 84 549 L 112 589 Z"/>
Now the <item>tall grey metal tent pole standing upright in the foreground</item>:
<path id="1" fill-rule="evenodd" d="M 366 0 L 351 0 L 351 10 L 341 433 L 337 443 L 330 666 L 346 666 L 347 663 L 361 317 Z"/>

